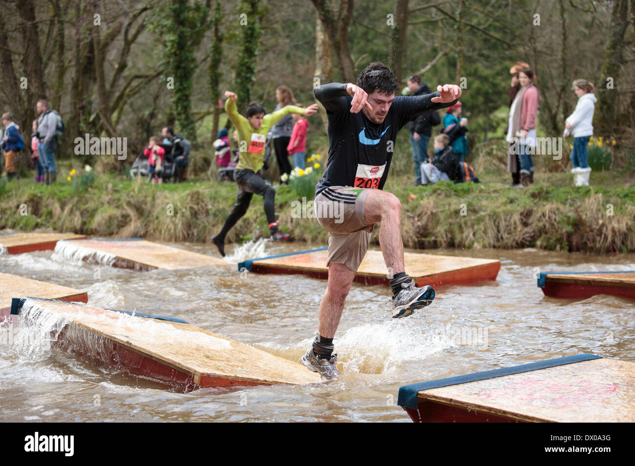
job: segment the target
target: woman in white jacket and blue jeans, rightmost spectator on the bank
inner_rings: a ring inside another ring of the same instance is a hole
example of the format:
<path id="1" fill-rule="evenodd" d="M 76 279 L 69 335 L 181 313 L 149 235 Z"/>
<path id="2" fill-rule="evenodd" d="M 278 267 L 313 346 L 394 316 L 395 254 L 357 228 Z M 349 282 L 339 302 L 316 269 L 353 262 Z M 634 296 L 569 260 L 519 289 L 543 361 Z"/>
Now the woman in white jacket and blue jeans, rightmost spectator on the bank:
<path id="1" fill-rule="evenodd" d="M 573 113 L 565 120 L 565 133 L 563 135 L 566 138 L 570 133 L 573 134 L 571 161 L 573 163 L 572 172 L 576 173 L 580 169 L 589 169 L 587 145 L 593 136 L 593 112 L 598 100 L 594 94 L 593 84 L 586 79 L 573 81 L 573 91 L 578 96 L 578 103 Z"/>

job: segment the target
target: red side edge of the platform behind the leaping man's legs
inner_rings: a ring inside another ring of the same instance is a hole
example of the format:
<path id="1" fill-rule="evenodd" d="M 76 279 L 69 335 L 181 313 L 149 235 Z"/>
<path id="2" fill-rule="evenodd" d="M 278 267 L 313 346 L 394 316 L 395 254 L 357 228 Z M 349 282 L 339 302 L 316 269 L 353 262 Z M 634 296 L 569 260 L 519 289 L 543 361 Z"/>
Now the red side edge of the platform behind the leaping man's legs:
<path id="1" fill-rule="evenodd" d="M 251 262 L 251 271 L 256 273 L 277 273 L 284 275 L 306 275 L 312 278 L 328 279 L 328 271 L 288 269 L 282 266 L 270 266 L 268 264 Z M 491 262 L 479 266 L 465 269 L 452 270 L 449 272 L 427 275 L 417 278 L 417 286 L 431 285 L 439 287 L 442 285 L 467 285 L 469 283 L 481 282 L 483 280 L 496 280 L 500 271 L 500 262 Z M 366 285 L 387 285 L 389 279 L 385 276 L 368 276 L 356 274 L 354 282 Z"/>

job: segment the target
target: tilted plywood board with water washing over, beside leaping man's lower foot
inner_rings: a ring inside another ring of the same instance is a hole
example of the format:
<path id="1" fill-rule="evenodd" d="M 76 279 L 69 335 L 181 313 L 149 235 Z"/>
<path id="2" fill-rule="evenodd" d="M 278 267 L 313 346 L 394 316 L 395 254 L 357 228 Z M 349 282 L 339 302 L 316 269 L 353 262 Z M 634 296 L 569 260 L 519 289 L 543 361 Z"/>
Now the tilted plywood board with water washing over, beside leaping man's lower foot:
<path id="1" fill-rule="evenodd" d="M 196 387 L 321 382 L 317 373 L 299 363 L 189 323 L 127 316 L 100 307 L 60 301 L 27 299 L 25 303 L 23 307 L 35 303 L 58 313 L 72 325 L 91 333 L 93 338 L 86 339 L 88 342 L 95 342 L 94 335 L 99 335 L 119 348 L 133 351 L 145 358 L 145 375 L 160 380 L 165 380 L 165 374 L 172 368 L 194 380 Z M 67 337 L 71 334 L 77 335 L 68 332 Z"/>

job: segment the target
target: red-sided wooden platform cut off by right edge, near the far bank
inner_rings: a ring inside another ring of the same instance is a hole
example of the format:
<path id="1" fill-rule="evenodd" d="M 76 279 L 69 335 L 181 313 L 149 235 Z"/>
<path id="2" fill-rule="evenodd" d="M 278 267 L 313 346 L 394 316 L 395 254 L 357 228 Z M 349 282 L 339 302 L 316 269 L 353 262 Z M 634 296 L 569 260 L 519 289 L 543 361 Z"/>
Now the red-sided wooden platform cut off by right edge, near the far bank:
<path id="1" fill-rule="evenodd" d="M 541 273 L 538 287 L 545 296 L 586 299 L 607 294 L 635 299 L 635 271 Z"/>

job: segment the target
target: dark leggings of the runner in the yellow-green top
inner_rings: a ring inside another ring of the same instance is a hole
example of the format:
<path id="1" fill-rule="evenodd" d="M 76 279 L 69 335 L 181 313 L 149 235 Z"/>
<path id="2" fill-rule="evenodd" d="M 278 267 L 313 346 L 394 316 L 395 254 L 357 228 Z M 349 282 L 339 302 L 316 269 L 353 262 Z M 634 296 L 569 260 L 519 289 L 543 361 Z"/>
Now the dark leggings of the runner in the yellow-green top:
<path id="1" fill-rule="evenodd" d="M 234 209 L 229 212 L 223 224 L 223 229 L 218 233 L 217 237 L 221 241 L 225 241 L 225 236 L 229 230 L 231 230 L 232 226 L 246 214 L 254 194 L 264 197 L 267 222 L 270 224 L 276 222 L 276 214 L 274 212 L 276 190 L 271 186 L 267 186 L 264 179 L 260 178 L 260 176 L 255 174 L 252 170 L 236 170 L 234 171 L 234 179 L 238 185 L 238 195 L 236 196 Z"/>

